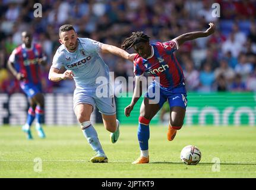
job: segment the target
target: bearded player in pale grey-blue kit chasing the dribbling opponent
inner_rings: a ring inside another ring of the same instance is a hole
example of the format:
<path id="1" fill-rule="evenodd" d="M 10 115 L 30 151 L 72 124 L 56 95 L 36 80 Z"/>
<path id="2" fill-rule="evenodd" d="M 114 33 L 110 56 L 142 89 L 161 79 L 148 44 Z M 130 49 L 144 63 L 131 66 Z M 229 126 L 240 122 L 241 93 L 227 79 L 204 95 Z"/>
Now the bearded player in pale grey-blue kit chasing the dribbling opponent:
<path id="1" fill-rule="evenodd" d="M 116 143 L 119 137 L 119 121 L 116 119 L 116 106 L 113 96 L 97 96 L 98 77 L 109 80 L 109 68 L 99 53 L 112 53 L 124 59 L 133 61 L 135 54 L 129 54 L 118 47 L 106 45 L 88 38 L 77 37 L 74 27 L 65 24 L 59 28 L 59 42 L 62 44 L 53 57 L 52 66 L 49 71 L 49 80 L 57 82 L 60 80 L 74 79 L 74 112 L 80 122 L 84 136 L 87 138 L 91 148 L 96 155 L 91 158 L 93 163 L 108 162 L 108 157 L 102 149 L 97 132 L 90 122 L 90 116 L 94 105 L 102 113 L 103 124 L 110 132 L 110 140 Z M 65 66 L 67 71 L 63 74 L 59 70 Z"/>

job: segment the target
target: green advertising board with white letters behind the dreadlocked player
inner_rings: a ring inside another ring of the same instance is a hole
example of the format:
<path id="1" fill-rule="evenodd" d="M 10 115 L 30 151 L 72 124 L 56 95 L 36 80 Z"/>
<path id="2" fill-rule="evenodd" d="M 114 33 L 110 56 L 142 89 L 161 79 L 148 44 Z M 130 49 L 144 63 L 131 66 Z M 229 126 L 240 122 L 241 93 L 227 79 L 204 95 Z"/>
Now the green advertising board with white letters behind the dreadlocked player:
<path id="1" fill-rule="evenodd" d="M 185 125 L 250 125 L 255 126 L 255 93 L 188 93 Z M 142 98 L 134 106 L 131 115 L 124 115 L 124 108 L 131 97 L 116 99 L 118 119 L 121 124 L 137 124 Z M 159 113 L 151 124 L 159 123 Z"/>

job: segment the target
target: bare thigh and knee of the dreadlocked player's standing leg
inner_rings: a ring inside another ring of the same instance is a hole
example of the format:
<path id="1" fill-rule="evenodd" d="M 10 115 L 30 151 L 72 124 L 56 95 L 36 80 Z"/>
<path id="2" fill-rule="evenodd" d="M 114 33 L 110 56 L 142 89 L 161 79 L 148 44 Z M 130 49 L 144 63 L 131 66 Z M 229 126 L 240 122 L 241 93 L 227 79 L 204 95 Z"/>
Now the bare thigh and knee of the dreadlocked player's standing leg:
<path id="1" fill-rule="evenodd" d="M 158 103 L 150 103 L 150 100 L 147 97 L 144 97 L 140 107 L 140 116 L 151 120 L 160 108 L 161 106 Z"/>

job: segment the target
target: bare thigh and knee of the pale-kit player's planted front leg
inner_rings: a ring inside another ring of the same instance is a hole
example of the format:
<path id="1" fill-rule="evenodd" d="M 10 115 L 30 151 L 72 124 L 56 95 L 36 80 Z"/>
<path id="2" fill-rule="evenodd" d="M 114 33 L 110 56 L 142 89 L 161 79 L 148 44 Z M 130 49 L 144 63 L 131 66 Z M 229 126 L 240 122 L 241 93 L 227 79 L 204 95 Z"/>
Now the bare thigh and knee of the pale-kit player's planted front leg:
<path id="1" fill-rule="evenodd" d="M 74 107 L 75 116 L 80 123 L 90 121 L 93 106 L 86 103 L 79 103 Z"/>

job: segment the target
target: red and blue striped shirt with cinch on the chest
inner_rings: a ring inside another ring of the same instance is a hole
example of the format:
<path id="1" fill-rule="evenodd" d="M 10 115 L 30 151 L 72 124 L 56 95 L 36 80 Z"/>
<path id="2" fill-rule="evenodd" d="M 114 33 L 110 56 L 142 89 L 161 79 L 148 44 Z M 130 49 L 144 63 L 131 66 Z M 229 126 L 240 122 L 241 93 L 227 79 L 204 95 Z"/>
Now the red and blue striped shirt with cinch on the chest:
<path id="1" fill-rule="evenodd" d="M 165 88 L 175 88 L 184 83 L 181 65 L 173 53 L 177 49 L 179 45 L 175 39 L 151 44 L 151 56 L 147 59 L 140 55 L 134 57 L 135 77 L 141 77 L 144 72 L 148 72 L 154 80 L 159 77 L 160 85 Z"/>

